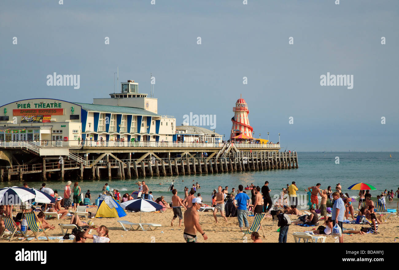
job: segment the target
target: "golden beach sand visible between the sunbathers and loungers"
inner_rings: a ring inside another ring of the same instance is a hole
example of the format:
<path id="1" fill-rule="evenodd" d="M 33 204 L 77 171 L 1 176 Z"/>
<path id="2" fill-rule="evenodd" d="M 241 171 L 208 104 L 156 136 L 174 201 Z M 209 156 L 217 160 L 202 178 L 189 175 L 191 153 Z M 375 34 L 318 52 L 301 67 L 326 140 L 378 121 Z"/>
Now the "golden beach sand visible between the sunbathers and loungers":
<path id="1" fill-rule="evenodd" d="M 96 211 L 97 208 L 93 207 L 89 211 Z M 184 209 L 182 209 L 184 212 Z M 184 223 L 182 222 L 182 227 L 178 227 L 178 218 L 174 221 L 174 226 L 170 226 L 170 222 L 173 217 L 172 209 L 167 209 L 165 213 L 142 213 L 141 223 L 158 223 L 162 227 L 154 231 L 123 231 L 122 227 L 118 223 L 118 220 L 126 220 L 132 223 L 138 223 L 140 219 L 140 213 L 127 213 L 125 217 L 122 218 L 103 218 L 103 219 L 91 219 L 95 225 L 105 225 L 109 228 L 109 238 L 111 242 L 184 242 L 183 232 Z M 367 235 L 344 235 L 344 242 L 394 242 L 395 237 L 399 236 L 399 216 L 392 215 L 387 222 L 379 225 L 379 234 L 367 234 Z M 208 236 L 207 240 L 203 240 L 200 233 L 197 233 L 198 242 L 245 242 L 242 240 L 243 233 L 239 232 L 237 217 L 229 217 L 228 221 L 225 222 L 221 218 L 220 213 L 217 214 L 219 223 L 215 223 L 212 212 L 200 212 L 199 221 L 202 229 Z M 249 217 L 249 222 L 253 217 Z M 296 216 L 292 215 L 292 220 L 296 219 Z M 49 218 L 47 222 L 52 225 L 56 225 L 54 230 L 48 231 L 49 236 L 62 236 L 61 229 L 57 225 L 58 223 L 68 223 L 71 218 L 67 217 L 65 220 L 57 221 L 56 218 Z M 85 221 L 85 219 L 82 219 Z M 323 221 L 320 221 L 323 223 Z M 367 227 L 368 225 L 353 225 L 344 224 L 345 228 L 354 228 L 359 230 L 361 227 Z M 265 232 L 265 238 L 262 238 L 263 242 L 278 242 L 279 233 L 277 229 L 277 222 L 273 225 L 271 215 L 265 217 L 263 221 L 263 231 Z M 294 232 L 304 232 L 312 231 L 312 229 L 317 229 L 317 227 L 300 227 L 297 225 L 290 225 L 288 230 L 287 242 L 294 242 L 294 237 L 292 233 Z M 69 230 L 68 233 L 71 231 Z M 95 232 L 93 232 L 95 233 Z M 261 236 L 262 231 L 259 229 Z M 87 239 L 87 242 L 92 242 L 93 240 Z M 248 236 L 247 242 L 252 242 L 250 236 Z M 399 239 L 397 239 L 399 242 Z M 6 242 L 5 240 L 0 240 L 0 242 Z M 16 241 L 13 241 L 16 242 Z M 40 240 L 40 242 L 47 242 Z M 59 242 L 59 240 L 50 240 L 49 242 Z M 64 242 L 72 242 L 72 240 L 64 240 Z M 335 242 L 333 236 L 327 236 L 326 242 Z"/>

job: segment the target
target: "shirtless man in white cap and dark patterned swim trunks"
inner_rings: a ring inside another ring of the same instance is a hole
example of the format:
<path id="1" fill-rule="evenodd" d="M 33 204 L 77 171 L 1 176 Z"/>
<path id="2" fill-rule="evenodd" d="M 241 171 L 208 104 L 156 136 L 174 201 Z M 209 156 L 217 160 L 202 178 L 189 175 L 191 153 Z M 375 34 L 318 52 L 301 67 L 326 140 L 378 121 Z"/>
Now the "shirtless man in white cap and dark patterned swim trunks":
<path id="1" fill-rule="evenodd" d="M 194 198 L 190 203 L 192 206 L 184 212 L 184 240 L 187 243 L 197 242 L 197 230 L 203 236 L 203 240 L 207 240 L 208 236 L 202 231 L 201 225 L 199 225 L 198 210 L 201 207 L 201 199 Z"/>

